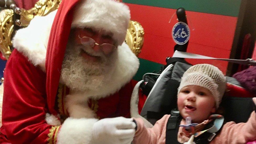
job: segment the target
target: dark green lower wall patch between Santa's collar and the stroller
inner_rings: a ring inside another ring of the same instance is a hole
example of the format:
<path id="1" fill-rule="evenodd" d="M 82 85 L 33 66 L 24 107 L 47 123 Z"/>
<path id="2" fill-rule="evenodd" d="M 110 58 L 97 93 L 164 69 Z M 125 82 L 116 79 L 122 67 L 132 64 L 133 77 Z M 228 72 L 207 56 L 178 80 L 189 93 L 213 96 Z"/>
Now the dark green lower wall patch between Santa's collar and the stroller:
<path id="1" fill-rule="evenodd" d="M 141 81 L 142 77 L 145 73 L 150 73 L 153 71 L 159 71 L 161 66 L 163 66 L 160 63 L 156 63 L 156 62 L 152 62 L 152 61 L 148 61 L 142 58 L 139 58 L 140 60 L 140 67 L 136 73 L 136 75 L 133 77 L 134 80 L 136 81 Z"/>

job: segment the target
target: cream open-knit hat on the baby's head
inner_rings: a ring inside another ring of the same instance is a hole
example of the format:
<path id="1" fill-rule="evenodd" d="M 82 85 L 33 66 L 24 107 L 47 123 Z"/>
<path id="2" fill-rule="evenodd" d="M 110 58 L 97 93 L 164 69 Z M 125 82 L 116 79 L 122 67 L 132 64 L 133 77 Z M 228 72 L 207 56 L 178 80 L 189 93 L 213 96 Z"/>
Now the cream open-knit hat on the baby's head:
<path id="1" fill-rule="evenodd" d="M 209 89 L 215 98 L 216 108 L 219 107 L 223 94 L 226 90 L 226 77 L 215 66 L 209 64 L 198 64 L 190 67 L 183 75 L 180 89 L 189 85 L 196 85 Z"/>

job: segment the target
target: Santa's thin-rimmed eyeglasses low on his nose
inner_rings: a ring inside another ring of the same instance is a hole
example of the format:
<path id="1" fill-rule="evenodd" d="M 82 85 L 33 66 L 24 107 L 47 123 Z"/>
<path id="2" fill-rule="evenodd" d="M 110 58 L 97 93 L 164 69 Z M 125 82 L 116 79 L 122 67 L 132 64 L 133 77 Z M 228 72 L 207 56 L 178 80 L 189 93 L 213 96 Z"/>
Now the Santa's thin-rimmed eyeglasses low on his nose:
<path id="1" fill-rule="evenodd" d="M 80 38 L 82 45 L 86 47 L 94 47 L 95 45 L 98 45 L 106 55 L 110 54 L 113 50 L 117 49 L 117 46 L 112 44 L 98 44 L 94 39 L 87 36 L 81 38 L 80 35 L 78 35 L 78 37 Z"/>

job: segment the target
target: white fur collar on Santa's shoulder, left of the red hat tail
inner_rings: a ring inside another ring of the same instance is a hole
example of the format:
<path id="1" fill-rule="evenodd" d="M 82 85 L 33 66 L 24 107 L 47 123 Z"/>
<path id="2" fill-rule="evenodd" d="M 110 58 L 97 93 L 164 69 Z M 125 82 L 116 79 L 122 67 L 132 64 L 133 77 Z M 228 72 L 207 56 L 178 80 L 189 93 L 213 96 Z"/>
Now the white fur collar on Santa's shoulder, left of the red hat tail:
<path id="1" fill-rule="evenodd" d="M 28 57 L 29 61 L 45 70 L 45 58 L 52 23 L 57 10 L 45 17 L 34 17 L 28 27 L 19 29 L 13 37 L 13 47 Z"/>

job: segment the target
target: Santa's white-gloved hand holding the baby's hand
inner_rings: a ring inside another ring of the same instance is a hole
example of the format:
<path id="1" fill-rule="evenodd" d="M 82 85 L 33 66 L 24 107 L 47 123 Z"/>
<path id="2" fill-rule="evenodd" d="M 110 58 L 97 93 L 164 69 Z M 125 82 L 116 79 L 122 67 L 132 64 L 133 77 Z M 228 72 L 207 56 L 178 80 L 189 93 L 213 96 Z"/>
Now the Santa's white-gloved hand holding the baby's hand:
<path id="1" fill-rule="evenodd" d="M 133 119 L 105 118 L 94 123 L 92 143 L 130 144 L 135 135 Z"/>

